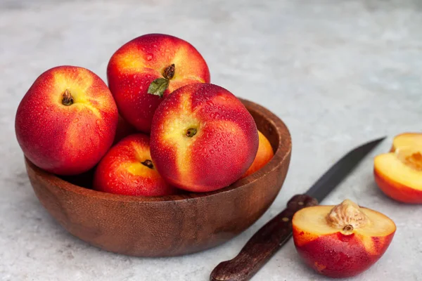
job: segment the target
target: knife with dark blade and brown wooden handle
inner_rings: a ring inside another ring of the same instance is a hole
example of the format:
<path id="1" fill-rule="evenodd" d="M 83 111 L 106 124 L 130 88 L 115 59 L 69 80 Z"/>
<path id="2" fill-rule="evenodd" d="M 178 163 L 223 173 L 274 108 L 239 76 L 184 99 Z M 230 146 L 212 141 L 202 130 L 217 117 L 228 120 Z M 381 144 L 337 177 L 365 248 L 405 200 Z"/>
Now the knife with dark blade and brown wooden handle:
<path id="1" fill-rule="evenodd" d="M 384 139 L 385 137 L 378 138 L 354 148 L 331 166 L 305 194 L 293 196 L 288 201 L 287 208 L 262 226 L 234 259 L 223 261 L 212 270 L 210 280 L 250 280 L 292 236 L 291 220 L 295 212 L 305 207 L 315 206 L 324 200 L 326 195 Z"/>

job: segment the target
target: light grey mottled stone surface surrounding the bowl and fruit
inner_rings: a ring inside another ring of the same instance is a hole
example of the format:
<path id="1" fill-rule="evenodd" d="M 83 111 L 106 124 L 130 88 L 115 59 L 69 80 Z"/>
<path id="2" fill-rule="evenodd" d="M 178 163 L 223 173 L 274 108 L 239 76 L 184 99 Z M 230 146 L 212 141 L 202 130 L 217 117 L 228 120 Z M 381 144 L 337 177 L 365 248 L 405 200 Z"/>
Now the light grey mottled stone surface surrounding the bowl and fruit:
<path id="1" fill-rule="evenodd" d="M 288 124 L 293 157 L 283 189 L 264 216 L 234 240 L 200 254 L 136 259 L 90 247 L 37 202 L 15 141 L 20 99 L 56 65 L 106 78 L 108 58 L 141 34 L 190 41 L 212 83 L 261 103 Z M 207 280 L 252 233 L 305 191 L 347 150 L 388 140 L 324 204 L 345 198 L 397 223 L 385 256 L 354 280 L 422 280 L 419 206 L 376 188 L 372 159 L 392 136 L 421 131 L 422 1 L 0 1 L 0 280 Z M 254 280 L 324 280 L 302 265 L 290 240 Z"/>

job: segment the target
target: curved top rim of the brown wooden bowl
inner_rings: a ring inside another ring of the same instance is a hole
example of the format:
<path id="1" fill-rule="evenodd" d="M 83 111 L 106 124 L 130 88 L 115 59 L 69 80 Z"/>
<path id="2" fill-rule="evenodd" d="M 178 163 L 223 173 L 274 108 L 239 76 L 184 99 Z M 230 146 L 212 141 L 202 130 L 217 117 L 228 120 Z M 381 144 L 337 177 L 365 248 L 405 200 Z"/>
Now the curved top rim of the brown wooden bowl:
<path id="1" fill-rule="evenodd" d="M 289 157 L 292 142 L 290 132 L 284 124 L 283 121 L 274 113 L 267 110 L 267 108 L 263 107 L 262 105 L 258 105 L 250 100 L 245 100 L 243 98 L 239 98 L 243 105 L 248 110 L 254 110 L 255 112 L 262 115 L 265 119 L 267 119 L 274 128 L 276 128 L 279 139 L 276 147 L 276 152 L 274 153 L 274 157 L 259 171 L 256 171 L 254 174 L 247 176 L 245 178 L 241 178 L 240 180 L 236 181 L 232 185 L 229 185 L 226 188 L 222 188 L 219 190 L 215 190 L 212 192 L 188 192 L 181 195 L 167 195 L 167 196 L 159 196 L 159 197 L 145 197 L 145 196 L 134 196 L 134 195 L 116 195 L 113 193 L 108 192 L 101 192 L 97 190 L 91 190 L 89 188 L 83 188 L 82 186 L 75 185 L 68 181 L 63 180 L 59 176 L 55 174 L 51 174 L 44 169 L 39 168 L 29 159 L 25 157 L 25 162 L 27 164 L 28 169 L 32 169 L 35 171 L 35 175 L 43 178 L 44 181 L 49 181 L 49 183 L 57 188 L 61 188 L 62 190 L 67 190 L 69 192 L 74 192 L 79 195 L 87 196 L 87 197 L 95 197 L 98 200 L 112 200 L 112 201 L 119 201 L 119 202 L 171 202 L 177 200 L 195 200 L 196 198 L 201 197 L 212 197 L 219 194 L 225 194 L 228 192 L 234 192 L 234 190 L 238 190 L 240 188 L 245 188 L 246 186 L 259 181 L 260 178 L 266 176 L 267 174 L 274 171 L 277 167 L 279 167 L 284 161 L 286 161 L 287 157 Z M 284 136 L 284 138 L 282 138 Z M 286 136 L 288 136 L 286 138 Z"/>

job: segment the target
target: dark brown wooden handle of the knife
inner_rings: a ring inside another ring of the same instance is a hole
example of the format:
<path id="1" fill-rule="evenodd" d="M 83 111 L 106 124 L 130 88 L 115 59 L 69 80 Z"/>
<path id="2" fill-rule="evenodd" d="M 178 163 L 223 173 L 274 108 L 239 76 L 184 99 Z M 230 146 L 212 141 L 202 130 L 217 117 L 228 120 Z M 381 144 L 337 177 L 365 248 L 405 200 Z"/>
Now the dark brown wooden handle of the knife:
<path id="1" fill-rule="evenodd" d="M 315 206 L 318 202 L 308 195 L 295 195 L 287 208 L 253 235 L 240 253 L 223 261 L 212 270 L 211 281 L 246 281 L 285 244 L 292 235 L 292 218 L 296 211 Z"/>

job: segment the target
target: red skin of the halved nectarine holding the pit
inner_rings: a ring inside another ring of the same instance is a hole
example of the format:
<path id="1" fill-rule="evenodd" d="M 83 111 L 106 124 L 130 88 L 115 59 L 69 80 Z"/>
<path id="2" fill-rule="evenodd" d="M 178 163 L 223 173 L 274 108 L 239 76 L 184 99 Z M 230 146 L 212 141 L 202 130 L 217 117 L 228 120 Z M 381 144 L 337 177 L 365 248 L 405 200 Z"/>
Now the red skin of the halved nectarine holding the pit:
<path id="1" fill-rule="evenodd" d="M 302 235 L 293 228 L 296 250 L 307 266 L 321 275 L 333 278 L 353 277 L 363 273 L 383 256 L 395 233 L 371 239 L 371 247 L 365 247 L 362 236 L 352 233 L 322 235 L 309 242 L 298 242 Z"/>

